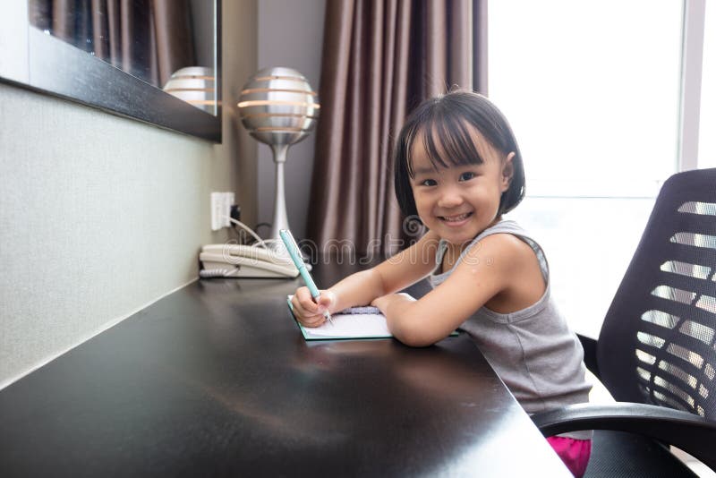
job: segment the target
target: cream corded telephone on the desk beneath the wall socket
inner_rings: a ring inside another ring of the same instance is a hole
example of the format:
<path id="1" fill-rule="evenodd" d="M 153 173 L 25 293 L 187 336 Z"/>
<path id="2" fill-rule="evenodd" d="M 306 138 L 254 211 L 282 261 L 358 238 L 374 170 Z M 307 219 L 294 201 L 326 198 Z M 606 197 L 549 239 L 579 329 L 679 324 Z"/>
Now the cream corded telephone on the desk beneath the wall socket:
<path id="1" fill-rule="evenodd" d="M 201 248 L 200 277 L 297 277 L 288 255 L 242 244 L 209 244 Z M 306 264 L 311 269 L 311 264 Z"/>

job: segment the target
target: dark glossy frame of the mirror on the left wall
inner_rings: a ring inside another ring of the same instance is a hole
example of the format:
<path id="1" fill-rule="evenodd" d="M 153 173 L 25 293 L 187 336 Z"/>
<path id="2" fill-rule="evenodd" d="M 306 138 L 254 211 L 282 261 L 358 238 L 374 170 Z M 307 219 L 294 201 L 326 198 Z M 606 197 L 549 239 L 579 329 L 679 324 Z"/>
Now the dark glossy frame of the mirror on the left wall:
<path id="1" fill-rule="evenodd" d="M 27 2 L 10 5 L 0 19 L 0 81 L 221 142 L 221 0 L 214 2 L 217 115 L 31 26 Z"/>

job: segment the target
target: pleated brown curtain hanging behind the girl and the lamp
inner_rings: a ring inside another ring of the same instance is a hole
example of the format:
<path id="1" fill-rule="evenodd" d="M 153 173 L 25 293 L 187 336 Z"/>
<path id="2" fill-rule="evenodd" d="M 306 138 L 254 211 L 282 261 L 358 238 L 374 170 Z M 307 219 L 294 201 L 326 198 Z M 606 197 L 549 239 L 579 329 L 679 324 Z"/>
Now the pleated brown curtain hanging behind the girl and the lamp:
<path id="1" fill-rule="evenodd" d="M 485 90 L 484 4 L 327 2 L 307 227 L 319 250 L 350 241 L 362 255 L 392 254 L 415 239 L 395 199 L 394 139 L 422 99 Z"/>

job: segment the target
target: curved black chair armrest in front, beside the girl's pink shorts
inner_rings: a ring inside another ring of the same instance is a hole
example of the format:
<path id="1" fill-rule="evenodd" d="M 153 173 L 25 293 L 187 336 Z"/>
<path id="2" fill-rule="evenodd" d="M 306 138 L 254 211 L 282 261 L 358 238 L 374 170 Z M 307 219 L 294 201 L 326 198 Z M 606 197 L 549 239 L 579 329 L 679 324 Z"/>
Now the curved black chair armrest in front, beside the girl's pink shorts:
<path id="1" fill-rule="evenodd" d="M 716 471 L 716 423 L 665 406 L 618 402 L 568 405 L 532 415 L 542 435 L 578 430 L 613 430 L 644 435 L 674 445 Z"/>

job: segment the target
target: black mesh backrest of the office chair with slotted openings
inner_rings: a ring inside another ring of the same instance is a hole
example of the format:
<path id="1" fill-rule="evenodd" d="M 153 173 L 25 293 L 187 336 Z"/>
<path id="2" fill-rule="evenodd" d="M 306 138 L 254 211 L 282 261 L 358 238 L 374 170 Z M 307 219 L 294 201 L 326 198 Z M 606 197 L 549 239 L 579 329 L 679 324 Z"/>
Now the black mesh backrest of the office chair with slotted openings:
<path id="1" fill-rule="evenodd" d="M 601 328 L 601 380 L 619 401 L 716 420 L 716 169 L 673 175 Z"/>

